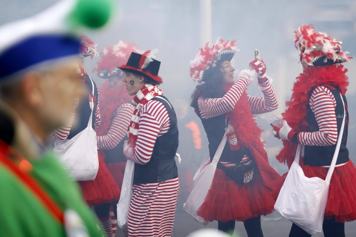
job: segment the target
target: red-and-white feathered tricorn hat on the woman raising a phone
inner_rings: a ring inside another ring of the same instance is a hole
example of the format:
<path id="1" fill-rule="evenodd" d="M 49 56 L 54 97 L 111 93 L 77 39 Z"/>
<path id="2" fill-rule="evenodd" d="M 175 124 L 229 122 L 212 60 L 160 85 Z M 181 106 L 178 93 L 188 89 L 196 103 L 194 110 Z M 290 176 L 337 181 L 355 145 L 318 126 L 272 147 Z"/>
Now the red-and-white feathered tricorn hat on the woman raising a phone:
<path id="1" fill-rule="evenodd" d="M 195 55 L 195 58 L 190 61 L 190 76 L 194 81 L 206 81 L 216 68 L 219 68 L 220 63 L 228 60 L 231 61 L 235 52 L 240 51 L 235 46 L 236 40 L 224 41 L 219 38 L 215 44 L 209 47 L 209 42 L 204 48 L 200 48 L 200 52 Z"/>

